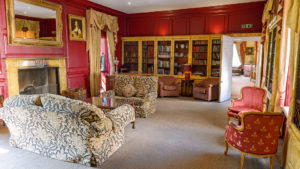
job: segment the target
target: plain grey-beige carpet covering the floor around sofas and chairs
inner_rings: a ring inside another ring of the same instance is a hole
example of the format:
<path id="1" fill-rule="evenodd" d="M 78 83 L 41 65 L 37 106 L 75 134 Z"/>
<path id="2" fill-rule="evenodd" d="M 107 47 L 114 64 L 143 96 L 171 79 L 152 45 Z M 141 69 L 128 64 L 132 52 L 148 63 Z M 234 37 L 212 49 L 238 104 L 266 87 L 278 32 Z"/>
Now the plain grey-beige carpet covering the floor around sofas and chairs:
<path id="1" fill-rule="evenodd" d="M 125 144 L 103 169 L 238 169 L 240 154 L 229 149 L 224 156 L 224 128 L 229 102 L 202 102 L 192 98 L 163 98 L 157 112 L 137 119 L 125 131 Z M 12 148 L 9 132 L 0 129 L 1 169 L 87 169 Z M 280 152 L 280 151 L 279 151 Z M 280 154 L 278 152 L 278 154 Z M 274 168 L 279 169 L 279 156 Z M 244 169 L 267 169 L 269 160 L 246 156 Z"/>

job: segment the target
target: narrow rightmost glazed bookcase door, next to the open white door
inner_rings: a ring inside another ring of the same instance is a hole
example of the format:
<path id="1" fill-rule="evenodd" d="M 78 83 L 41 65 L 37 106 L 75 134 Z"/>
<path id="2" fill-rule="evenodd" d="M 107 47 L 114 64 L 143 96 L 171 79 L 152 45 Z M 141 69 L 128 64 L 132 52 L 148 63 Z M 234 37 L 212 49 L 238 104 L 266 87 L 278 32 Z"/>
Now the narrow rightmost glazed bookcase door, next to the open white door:
<path id="1" fill-rule="evenodd" d="M 221 39 L 212 40 L 211 77 L 220 77 Z"/>

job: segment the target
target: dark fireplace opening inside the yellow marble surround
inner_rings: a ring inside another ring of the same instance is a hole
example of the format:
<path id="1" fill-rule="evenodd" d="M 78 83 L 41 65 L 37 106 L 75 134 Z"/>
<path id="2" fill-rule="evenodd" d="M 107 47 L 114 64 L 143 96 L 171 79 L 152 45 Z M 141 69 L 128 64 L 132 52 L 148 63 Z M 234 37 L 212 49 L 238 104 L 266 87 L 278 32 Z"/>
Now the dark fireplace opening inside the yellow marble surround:
<path id="1" fill-rule="evenodd" d="M 19 69 L 18 76 L 21 95 L 60 94 L 57 67 Z"/>

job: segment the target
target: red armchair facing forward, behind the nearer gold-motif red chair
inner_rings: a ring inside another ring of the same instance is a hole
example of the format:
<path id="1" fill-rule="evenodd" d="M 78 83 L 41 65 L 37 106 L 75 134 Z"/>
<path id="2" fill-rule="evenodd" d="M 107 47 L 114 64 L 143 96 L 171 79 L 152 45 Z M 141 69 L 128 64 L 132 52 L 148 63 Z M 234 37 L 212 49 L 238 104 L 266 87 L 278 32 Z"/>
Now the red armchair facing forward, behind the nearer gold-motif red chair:
<path id="1" fill-rule="evenodd" d="M 240 112 L 263 112 L 264 99 L 266 91 L 258 87 L 243 87 L 241 89 L 242 97 L 232 100 L 231 106 L 228 107 L 228 122 L 230 118 L 238 119 Z"/>

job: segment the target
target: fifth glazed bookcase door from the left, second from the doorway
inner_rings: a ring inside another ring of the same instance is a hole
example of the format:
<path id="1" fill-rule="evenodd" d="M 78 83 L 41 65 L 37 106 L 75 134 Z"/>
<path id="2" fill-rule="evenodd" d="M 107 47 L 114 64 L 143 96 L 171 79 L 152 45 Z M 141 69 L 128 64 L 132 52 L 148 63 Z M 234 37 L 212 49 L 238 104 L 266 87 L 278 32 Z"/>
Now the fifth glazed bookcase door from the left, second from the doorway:
<path id="1" fill-rule="evenodd" d="M 192 41 L 192 75 L 207 76 L 208 40 Z"/>

